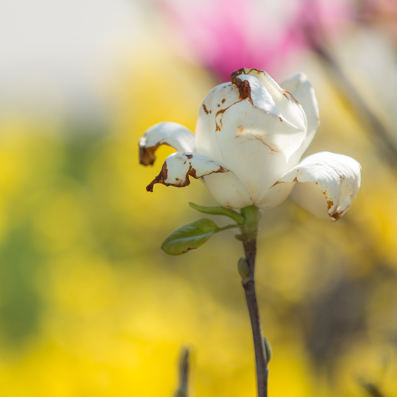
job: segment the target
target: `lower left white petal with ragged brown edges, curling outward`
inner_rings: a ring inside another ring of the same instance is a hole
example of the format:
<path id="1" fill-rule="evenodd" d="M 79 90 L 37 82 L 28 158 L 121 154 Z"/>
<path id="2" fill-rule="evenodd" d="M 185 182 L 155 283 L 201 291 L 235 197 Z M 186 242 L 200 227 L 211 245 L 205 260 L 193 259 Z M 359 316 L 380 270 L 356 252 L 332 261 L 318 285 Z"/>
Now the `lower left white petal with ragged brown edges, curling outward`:
<path id="1" fill-rule="evenodd" d="M 225 164 L 192 152 L 178 152 L 168 156 L 160 173 L 146 190 L 152 192 L 156 183 L 175 187 L 189 186 L 189 176 L 198 179 L 204 175 L 208 190 L 219 205 L 226 208 L 252 205 L 247 189 Z"/>

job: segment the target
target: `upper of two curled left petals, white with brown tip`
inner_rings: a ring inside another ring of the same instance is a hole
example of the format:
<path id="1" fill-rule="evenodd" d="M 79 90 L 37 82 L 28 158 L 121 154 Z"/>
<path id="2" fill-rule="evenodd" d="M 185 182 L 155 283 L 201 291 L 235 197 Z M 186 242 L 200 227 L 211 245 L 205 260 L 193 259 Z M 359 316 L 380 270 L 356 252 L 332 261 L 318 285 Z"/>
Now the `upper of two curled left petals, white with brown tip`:
<path id="1" fill-rule="evenodd" d="M 139 161 L 144 166 L 156 160 L 154 152 L 160 145 L 168 145 L 178 152 L 195 150 L 195 135 L 184 125 L 166 121 L 152 125 L 139 140 Z"/>

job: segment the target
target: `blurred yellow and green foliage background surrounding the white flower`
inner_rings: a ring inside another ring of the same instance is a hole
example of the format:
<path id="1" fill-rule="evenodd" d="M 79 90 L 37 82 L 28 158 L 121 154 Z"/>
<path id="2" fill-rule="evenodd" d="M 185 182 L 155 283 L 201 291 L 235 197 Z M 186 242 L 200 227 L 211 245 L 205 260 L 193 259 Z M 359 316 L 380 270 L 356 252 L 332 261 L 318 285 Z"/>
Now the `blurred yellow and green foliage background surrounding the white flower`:
<path id="1" fill-rule="evenodd" d="M 214 202 L 199 180 L 146 192 L 171 148 L 159 148 L 153 167 L 138 164 L 145 129 L 169 120 L 194 130 L 217 83 L 173 50 L 154 29 L 123 58 L 116 83 L 98 82 L 112 104 L 103 125 L 62 112 L 0 116 L 2 395 L 172 396 L 183 346 L 192 352 L 191 396 L 255 395 L 241 243 L 226 231 L 166 256 L 162 241 L 200 217 L 188 202 Z M 306 54 L 282 72 L 296 68 L 320 107 L 308 152 L 353 156 L 362 187 L 336 224 L 307 184 L 262 218 L 257 289 L 273 349 L 269 395 L 365 396 L 359 379 L 395 395 L 396 169 L 319 60 Z"/>

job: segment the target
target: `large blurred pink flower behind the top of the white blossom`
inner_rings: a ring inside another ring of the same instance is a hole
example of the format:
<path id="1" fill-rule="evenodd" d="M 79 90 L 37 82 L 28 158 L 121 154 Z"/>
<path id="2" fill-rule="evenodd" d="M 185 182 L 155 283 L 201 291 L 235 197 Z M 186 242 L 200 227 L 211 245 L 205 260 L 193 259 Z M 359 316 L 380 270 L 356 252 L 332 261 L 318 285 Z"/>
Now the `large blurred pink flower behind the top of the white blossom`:
<path id="1" fill-rule="evenodd" d="M 274 4 L 277 3 L 277 4 Z M 345 2 L 162 0 L 178 37 L 220 79 L 242 66 L 277 71 L 297 50 L 332 36 L 351 15 Z M 307 39 L 310 35 L 310 40 Z"/>

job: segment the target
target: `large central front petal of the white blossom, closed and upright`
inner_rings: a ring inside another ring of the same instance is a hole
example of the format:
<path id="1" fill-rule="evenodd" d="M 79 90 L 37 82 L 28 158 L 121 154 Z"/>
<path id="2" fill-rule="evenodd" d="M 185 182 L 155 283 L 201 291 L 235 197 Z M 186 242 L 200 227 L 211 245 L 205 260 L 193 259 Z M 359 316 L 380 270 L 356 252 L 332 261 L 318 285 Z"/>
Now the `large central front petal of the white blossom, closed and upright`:
<path id="1" fill-rule="evenodd" d="M 281 102 L 286 103 L 282 105 L 285 111 L 281 112 L 278 108 L 281 102 L 276 103 L 256 77 L 242 75 L 241 78 L 249 83 L 251 95 L 217 112 L 215 137 L 224 163 L 241 179 L 256 202 L 280 175 L 291 169 L 287 164 L 304 142 L 306 119 L 302 110 L 282 94 Z"/>

